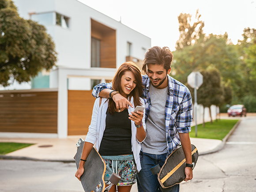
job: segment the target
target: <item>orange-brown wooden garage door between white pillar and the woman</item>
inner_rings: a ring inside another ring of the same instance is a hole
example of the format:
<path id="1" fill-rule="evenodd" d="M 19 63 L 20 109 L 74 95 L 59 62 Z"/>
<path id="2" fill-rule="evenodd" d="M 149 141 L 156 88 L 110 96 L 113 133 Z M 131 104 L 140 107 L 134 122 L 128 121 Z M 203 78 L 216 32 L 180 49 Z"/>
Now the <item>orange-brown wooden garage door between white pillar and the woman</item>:
<path id="1" fill-rule="evenodd" d="M 95 98 L 91 90 L 68 90 L 68 135 L 86 135 Z"/>

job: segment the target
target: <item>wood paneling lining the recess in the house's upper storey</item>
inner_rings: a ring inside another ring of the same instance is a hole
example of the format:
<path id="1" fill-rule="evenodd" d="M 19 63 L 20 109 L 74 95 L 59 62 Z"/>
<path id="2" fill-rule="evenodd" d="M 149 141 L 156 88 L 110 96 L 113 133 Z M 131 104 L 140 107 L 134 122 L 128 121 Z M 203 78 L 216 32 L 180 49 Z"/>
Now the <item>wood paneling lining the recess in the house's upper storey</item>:
<path id="1" fill-rule="evenodd" d="M 101 68 L 116 68 L 116 30 L 91 19 L 91 36 L 101 41 Z"/>

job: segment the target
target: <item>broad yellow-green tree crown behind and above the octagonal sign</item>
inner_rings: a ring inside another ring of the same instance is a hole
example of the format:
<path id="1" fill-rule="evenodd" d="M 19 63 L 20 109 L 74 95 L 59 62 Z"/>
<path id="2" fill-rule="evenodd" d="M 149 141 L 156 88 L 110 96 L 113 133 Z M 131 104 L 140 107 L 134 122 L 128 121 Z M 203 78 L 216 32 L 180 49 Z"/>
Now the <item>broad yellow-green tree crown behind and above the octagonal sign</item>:
<path id="1" fill-rule="evenodd" d="M 173 52 L 172 75 L 185 83 L 192 71 L 200 71 L 209 65 L 214 65 L 220 71 L 223 81 L 230 81 L 231 85 L 239 83 L 239 59 L 237 50 L 230 44 L 228 35 L 210 34 L 198 40 L 193 46 L 186 46 Z"/>

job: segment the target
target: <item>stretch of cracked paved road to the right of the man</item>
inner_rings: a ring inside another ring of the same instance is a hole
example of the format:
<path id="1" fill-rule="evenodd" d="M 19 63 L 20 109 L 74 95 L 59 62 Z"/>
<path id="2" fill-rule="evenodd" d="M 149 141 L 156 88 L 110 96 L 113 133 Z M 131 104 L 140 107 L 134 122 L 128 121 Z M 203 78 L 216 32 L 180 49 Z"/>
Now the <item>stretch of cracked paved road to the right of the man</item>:
<path id="1" fill-rule="evenodd" d="M 256 192 L 256 117 L 243 118 L 225 147 L 199 156 L 180 192 Z"/>

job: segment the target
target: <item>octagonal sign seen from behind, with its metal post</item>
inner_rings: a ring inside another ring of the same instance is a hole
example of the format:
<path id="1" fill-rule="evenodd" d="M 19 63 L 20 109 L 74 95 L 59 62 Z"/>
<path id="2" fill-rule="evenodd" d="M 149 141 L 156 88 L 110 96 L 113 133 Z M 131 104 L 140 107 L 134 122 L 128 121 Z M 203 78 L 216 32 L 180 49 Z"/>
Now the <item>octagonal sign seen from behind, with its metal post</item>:
<path id="1" fill-rule="evenodd" d="M 197 117 L 196 117 L 196 108 L 197 108 L 197 90 L 198 88 L 203 84 L 203 75 L 200 72 L 192 72 L 188 75 L 188 85 L 192 88 L 194 88 L 194 95 L 195 95 L 195 101 L 194 101 L 194 108 L 195 108 L 195 122 L 196 122 L 196 137 L 197 137 Z"/>

